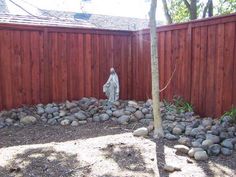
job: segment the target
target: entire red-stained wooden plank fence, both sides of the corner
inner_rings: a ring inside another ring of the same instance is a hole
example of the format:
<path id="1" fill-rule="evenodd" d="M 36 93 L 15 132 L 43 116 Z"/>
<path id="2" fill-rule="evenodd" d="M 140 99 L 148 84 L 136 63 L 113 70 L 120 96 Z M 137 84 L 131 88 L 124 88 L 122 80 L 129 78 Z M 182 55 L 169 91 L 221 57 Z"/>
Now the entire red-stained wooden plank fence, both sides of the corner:
<path id="1" fill-rule="evenodd" d="M 202 115 L 236 105 L 236 14 L 157 28 L 161 98 Z M 114 67 L 121 99 L 151 98 L 150 37 L 137 32 L 0 24 L 0 110 L 94 96 Z"/>

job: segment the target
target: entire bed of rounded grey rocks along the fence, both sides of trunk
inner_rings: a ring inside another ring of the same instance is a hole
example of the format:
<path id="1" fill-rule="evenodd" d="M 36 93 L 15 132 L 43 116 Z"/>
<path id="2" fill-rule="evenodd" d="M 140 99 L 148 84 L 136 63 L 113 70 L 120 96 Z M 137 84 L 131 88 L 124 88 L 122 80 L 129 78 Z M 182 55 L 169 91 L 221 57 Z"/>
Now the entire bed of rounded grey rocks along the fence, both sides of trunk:
<path id="1" fill-rule="evenodd" d="M 161 116 L 165 138 L 178 141 L 177 152 L 186 153 L 196 160 L 206 160 L 212 155 L 231 155 L 236 150 L 236 125 L 230 117 L 221 121 L 210 117 L 201 118 L 193 112 L 179 113 L 174 105 L 161 104 Z M 117 101 L 82 98 L 65 103 L 38 104 L 32 107 L 0 112 L 0 128 L 24 126 L 36 122 L 50 125 L 78 126 L 87 122 L 115 121 L 119 124 L 140 122 L 147 128 L 134 132 L 136 136 L 152 134 L 152 100 L 146 102 Z"/>

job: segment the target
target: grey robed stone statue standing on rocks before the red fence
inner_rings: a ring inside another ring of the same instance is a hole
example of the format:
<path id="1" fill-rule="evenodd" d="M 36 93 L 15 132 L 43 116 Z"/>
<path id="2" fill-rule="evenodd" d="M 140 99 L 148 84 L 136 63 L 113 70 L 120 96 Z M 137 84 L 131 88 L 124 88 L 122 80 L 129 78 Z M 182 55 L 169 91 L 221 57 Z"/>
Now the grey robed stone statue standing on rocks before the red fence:
<path id="1" fill-rule="evenodd" d="M 119 99 L 119 80 L 114 68 L 110 69 L 110 76 L 103 85 L 103 92 L 106 94 L 109 102 L 114 102 Z"/>

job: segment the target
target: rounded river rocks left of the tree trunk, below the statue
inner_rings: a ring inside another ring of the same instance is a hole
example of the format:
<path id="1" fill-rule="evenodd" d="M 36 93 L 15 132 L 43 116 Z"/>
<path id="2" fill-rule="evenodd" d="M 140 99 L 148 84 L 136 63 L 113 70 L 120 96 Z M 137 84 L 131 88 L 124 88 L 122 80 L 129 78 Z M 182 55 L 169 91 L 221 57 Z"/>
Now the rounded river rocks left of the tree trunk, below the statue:
<path id="1" fill-rule="evenodd" d="M 87 122 L 113 120 L 120 124 L 139 121 L 149 124 L 152 117 L 151 100 L 147 102 L 117 101 L 113 104 L 107 100 L 82 98 L 79 101 L 65 103 L 38 104 L 0 112 L 0 128 L 15 125 L 24 126 L 37 121 L 50 125 L 78 126 Z"/>

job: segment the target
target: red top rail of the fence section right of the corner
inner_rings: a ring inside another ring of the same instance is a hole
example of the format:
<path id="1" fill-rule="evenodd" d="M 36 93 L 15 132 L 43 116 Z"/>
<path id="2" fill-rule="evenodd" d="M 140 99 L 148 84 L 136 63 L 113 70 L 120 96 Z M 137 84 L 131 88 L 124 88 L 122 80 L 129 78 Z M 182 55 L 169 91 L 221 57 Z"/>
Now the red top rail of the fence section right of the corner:
<path id="1" fill-rule="evenodd" d="M 199 26 L 209 26 L 209 25 L 216 25 L 219 23 L 228 23 L 236 21 L 236 13 L 229 14 L 229 15 L 221 15 L 216 17 L 192 20 L 189 22 L 171 24 L 171 25 L 164 25 L 157 27 L 157 32 L 163 31 L 172 31 L 172 30 L 180 30 L 180 29 L 187 29 L 188 27 L 199 27 Z M 146 34 L 149 33 L 150 29 L 143 29 L 139 31 L 135 31 L 133 34 Z"/>

